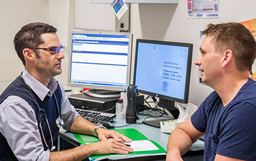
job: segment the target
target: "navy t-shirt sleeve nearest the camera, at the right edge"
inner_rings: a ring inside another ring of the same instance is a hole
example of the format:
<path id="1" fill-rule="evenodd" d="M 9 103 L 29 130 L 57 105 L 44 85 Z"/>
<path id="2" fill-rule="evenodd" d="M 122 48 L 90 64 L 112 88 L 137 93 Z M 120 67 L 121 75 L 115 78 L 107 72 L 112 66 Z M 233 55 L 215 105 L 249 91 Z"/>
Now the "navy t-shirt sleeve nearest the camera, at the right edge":
<path id="1" fill-rule="evenodd" d="M 255 160 L 256 107 L 238 103 L 227 111 L 220 123 L 216 154 L 241 160 Z"/>

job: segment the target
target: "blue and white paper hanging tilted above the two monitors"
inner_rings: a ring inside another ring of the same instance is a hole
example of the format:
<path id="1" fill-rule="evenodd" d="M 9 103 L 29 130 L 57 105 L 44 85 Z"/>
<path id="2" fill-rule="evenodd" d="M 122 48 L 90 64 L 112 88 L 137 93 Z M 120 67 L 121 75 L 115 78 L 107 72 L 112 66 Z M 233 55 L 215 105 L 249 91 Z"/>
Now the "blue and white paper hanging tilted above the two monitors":
<path id="1" fill-rule="evenodd" d="M 121 17 L 125 14 L 125 11 L 128 10 L 128 7 L 123 0 L 114 0 L 111 3 L 111 7 L 114 9 L 118 19 L 121 19 Z"/>

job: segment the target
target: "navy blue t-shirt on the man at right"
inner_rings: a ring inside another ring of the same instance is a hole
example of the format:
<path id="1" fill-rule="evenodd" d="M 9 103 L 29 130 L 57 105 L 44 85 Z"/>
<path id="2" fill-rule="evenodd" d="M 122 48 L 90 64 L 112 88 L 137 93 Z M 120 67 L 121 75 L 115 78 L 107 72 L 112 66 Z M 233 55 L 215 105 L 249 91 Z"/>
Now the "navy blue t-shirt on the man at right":
<path id="1" fill-rule="evenodd" d="M 256 160 L 256 82 L 249 80 L 223 107 L 216 91 L 191 116 L 195 129 L 205 133 L 204 160 L 216 154 Z"/>

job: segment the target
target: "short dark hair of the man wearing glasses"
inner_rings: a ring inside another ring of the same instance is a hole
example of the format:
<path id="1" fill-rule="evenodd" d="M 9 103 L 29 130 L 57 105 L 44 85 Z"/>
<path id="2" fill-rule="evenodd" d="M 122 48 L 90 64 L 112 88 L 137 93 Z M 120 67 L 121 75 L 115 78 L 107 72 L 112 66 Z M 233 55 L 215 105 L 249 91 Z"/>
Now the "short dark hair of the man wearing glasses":
<path id="1" fill-rule="evenodd" d="M 44 41 L 40 37 L 41 34 L 56 32 L 57 29 L 53 27 L 53 25 L 41 22 L 28 23 L 20 29 L 20 31 L 14 37 L 13 44 L 24 66 L 26 66 L 23 55 L 24 48 L 37 48 L 40 44 L 44 43 Z M 34 50 L 34 52 L 38 57 L 38 52 L 36 50 Z"/>

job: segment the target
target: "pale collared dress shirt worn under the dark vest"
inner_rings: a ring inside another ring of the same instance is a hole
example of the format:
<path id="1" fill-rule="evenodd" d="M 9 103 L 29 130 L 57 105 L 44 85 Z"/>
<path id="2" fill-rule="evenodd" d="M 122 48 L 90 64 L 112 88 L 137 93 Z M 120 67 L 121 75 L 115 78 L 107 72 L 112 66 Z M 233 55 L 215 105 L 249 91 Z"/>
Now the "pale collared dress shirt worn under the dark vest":
<path id="1" fill-rule="evenodd" d="M 61 118 L 63 128 L 69 130 L 75 118 L 79 115 L 69 103 L 63 85 L 57 78 L 50 80 L 48 88 L 31 76 L 26 69 L 22 74 L 28 86 L 43 100 L 46 95 L 51 97 L 57 85 L 61 87 Z M 9 96 L 0 104 L 0 131 L 7 139 L 9 146 L 18 160 L 49 160 L 50 152 L 44 151 L 40 137 L 36 113 L 22 98 Z"/>

